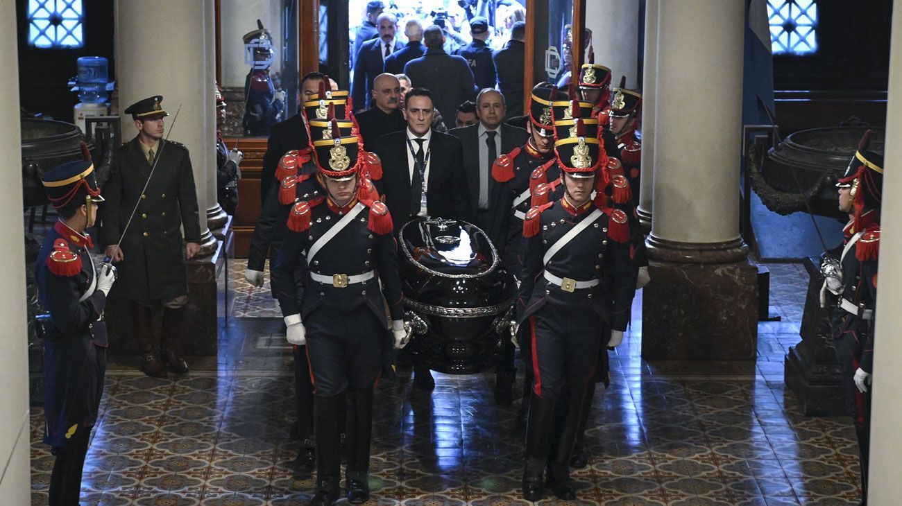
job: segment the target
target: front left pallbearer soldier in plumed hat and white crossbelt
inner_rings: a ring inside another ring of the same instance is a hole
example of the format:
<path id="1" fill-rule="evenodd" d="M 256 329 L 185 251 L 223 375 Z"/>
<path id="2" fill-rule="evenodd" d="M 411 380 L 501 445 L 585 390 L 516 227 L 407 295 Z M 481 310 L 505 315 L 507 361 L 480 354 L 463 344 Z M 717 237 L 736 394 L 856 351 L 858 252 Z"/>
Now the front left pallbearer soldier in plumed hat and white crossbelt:
<path id="1" fill-rule="evenodd" d="M 373 387 L 390 352 L 386 345 L 402 348 L 408 339 L 391 215 L 384 203 L 358 198 L 361 140 L 344 135 L 337 120 L 331 126 L 328 139 L 313 141 L 316 177 L 326 195 L 291 206 L 272 277 L 288 341 L 307 345 L 315 392 L 313 505 L 338 499 L 345 394 L 347 499 L 368 500 Z"/>

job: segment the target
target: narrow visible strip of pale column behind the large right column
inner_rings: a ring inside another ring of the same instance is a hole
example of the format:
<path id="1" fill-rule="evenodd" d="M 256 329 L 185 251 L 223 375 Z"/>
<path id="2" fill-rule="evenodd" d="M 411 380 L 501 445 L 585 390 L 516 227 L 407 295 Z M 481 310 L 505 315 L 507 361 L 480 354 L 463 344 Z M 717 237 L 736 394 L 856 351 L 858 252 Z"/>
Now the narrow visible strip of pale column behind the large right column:
<path id="1" fill-rule="evenodd" d="M 658 4 L 645 3 L 645 56 L 642 64 L 642 178 L 639 190 L 639 221 L 642 231 L 651 231 L 651 207 L 655 177 L 655 95 L 658 71 Z"/>

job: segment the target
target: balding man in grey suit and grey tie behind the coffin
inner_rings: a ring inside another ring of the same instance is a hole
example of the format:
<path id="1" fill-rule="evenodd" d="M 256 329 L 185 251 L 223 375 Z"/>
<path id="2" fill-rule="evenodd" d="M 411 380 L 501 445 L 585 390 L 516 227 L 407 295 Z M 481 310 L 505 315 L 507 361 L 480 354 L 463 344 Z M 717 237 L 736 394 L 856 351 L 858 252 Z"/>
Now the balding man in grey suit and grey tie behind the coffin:
<path id="1" fill-rule="evenodd" d="M 499 239 L 504 231 L 498 225 L 500 220 L 492 220 L 492 216 L 499 212 L 495 207 L 500 200 L 492 198 L 492 190 L 496 189 L 492 164 L 495 158 L 519 148 L 529 138 L 527 131 L 504 123 L 504 111 L 504 95 L 492 88 L 484 88 L 476 96 L 479 122 L 448 131 L 460 139 L 464 147 L 464 170 L 471 195 L 470 215 L 474 216 L 476 226 L 483 229 L 494 244 L 500 244 Z M 510 210 L 504 209 L 502 212 Z M 495 402 L 511 403 L 515 372 L 513 344 L 506 339 L 495 366 Z"/>

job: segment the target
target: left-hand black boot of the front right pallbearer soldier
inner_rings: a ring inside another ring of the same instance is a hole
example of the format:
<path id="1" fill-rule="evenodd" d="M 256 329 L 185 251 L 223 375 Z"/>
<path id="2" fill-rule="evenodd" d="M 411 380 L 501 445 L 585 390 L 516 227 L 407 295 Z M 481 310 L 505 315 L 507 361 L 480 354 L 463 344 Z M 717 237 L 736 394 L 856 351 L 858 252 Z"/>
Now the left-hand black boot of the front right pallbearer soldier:
<path id="1" fill-rule="evenodd" d="M 526 463 L 523 466 L 523 499 L 527 501 L 538 501 L 542 497 L 542 472 L 548 461 L 548 441 L 554 418 L 555 399 L 533 393 L 529 398 Z"/>

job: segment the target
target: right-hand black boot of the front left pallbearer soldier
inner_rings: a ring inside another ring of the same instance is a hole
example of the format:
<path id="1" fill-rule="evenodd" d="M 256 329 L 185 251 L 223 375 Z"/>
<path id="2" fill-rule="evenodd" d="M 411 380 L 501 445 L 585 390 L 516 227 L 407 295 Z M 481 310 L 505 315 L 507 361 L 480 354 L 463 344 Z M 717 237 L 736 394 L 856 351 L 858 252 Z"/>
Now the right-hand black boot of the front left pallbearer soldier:
<path id="1" fill-rule="evenodd" d="M 347 423 L 347 500 L 370 499 L 370 440 L 373 435 L 373 390 L 349 393 Z"/>

